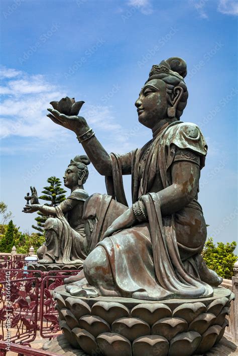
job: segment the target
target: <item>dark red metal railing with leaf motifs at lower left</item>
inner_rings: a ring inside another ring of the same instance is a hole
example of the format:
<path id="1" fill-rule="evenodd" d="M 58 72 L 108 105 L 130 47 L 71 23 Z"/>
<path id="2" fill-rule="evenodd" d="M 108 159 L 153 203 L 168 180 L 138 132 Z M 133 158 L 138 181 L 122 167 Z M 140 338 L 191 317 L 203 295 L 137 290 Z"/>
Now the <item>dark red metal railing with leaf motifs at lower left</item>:
<path id="1" fill-rule="evenodd" d="M 62 285 L 69 274 L 76 273 L 78 270 L 41 272 L 0 269 L 0 356 L 1 352 L 5 354 L 9 342 L 13 342 L 16 349 L 20 345 L 29 347 L 37 332 L 43 338 L 61 334 L 53 290 Z M 24 354 L 42 354 L 38 350 L 36 352 L 27 353 L 24 349 Z"/>

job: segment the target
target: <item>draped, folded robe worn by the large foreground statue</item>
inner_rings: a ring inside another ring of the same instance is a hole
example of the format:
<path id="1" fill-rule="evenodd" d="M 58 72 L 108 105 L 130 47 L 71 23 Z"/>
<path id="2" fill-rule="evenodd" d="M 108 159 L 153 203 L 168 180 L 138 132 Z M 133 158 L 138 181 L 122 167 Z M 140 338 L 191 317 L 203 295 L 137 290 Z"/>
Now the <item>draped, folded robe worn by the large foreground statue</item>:
<path id="1" fill-rule="evenodd" d="M 139 166 L 145 147 L 149 148 L 141 173 Z M 125 155 L 111 153 L 112 176 L 106 177 L 108 195 L 97 197 L 99 204 L 93 206 L 96 225 L 91 249 L 101 246 L 106 251 L 118 295 L 162 300 L 213 294 L 212 287 L 200 280 L 195 263 L 206 240 L 206 224 L 197 196 L 180 211 L 162 216 L 159 197 L 152 188 L 158 174 L 162 189 L 172 185 L 171 167 L 178 148 L 199 155 L 200 168 L 204 166 L 207 145 L 200 129 L 180 121 L 167 126 L 141 149 Z M 123 169 L 128 162 L 131 162 L 132 200 L 143 201 L 148 221 L 103 239 L 108 226 L 128 206 L 123 187 Z M 88 209 L 93 215 L 90 199 L 84 218 Z"/>

